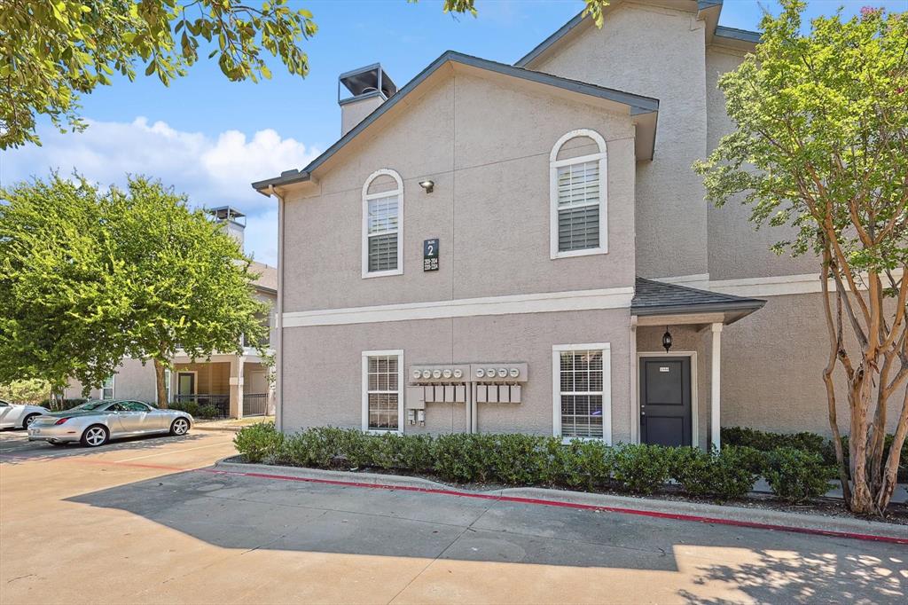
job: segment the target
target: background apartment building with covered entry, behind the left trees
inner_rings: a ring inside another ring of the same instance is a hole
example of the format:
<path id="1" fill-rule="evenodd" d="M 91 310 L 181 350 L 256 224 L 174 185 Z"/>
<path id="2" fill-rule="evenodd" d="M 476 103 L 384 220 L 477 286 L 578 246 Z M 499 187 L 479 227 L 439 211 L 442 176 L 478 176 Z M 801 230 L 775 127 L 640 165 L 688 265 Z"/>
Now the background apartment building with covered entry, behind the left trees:
<path id="1" fill-rule="evenodd" d="M 243 245 L 244 216 L 229 206 L 209 210 L 213 219 L 223 224 L 226 233 Z M 259 277 L 254 283 L 257 300 L 268 304 L 269 344 L 274 342 L 276 321 L 274 307 L 277 299 L 277 269 L 264 263 L 252 262 L 251 270 Z M 266 351 L 266 355 L 271 352 Z M 242 355 L 236 352 L 215 353 L 209 359 L 191 359 L 182 349 L 171 360 L 172 368 L 164 372 L 168 402 L 194 402 L 213 406 L 219 416 L 242 418 L 243 415 L 274 413 L 275 397 L 270 360 L 251 346 L 243 346 Z M 128 399 L 154 403 L 157 401 L 152 362 L 127 357 L 116 373 L 98 388 L 88 393 L 92 399 Z M 64 398 L 83 396 L 82 384 L 71 381 Z"/>

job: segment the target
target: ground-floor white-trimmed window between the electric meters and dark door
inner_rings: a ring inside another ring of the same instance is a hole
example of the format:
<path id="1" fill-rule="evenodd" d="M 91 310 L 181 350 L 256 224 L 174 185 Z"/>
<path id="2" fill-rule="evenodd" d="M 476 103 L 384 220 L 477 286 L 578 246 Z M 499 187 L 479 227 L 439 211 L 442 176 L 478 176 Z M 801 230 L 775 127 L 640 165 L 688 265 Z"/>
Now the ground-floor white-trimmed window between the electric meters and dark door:
<path id="1" fill-rule="evenodd" d="M 611 441 L 609 355 L 607 343 L 553 347 L 556 435 Z"/>

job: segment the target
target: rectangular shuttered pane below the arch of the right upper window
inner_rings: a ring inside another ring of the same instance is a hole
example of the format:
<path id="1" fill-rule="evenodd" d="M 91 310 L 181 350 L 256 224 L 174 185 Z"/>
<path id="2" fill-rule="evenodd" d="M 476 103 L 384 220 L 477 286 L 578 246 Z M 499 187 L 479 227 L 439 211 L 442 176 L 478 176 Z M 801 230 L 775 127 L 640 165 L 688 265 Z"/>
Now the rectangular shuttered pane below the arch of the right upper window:
<path id="1" fill-rule="evenodd" d="M 599 161 L 558 167 L 558 252 L 599 247 Z"/>

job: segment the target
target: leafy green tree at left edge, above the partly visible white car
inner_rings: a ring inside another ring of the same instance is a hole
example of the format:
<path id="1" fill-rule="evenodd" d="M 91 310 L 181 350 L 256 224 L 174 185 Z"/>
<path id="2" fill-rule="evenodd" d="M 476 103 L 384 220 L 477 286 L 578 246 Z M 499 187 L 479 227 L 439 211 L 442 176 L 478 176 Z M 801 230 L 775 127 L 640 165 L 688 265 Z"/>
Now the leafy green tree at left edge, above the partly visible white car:
<path id="1" fill-rule="evenodd" d="M 101 384 L 123 359 L 130 303 L 98 189 L 54 174 L 0 200 L 0 384 Z"/>

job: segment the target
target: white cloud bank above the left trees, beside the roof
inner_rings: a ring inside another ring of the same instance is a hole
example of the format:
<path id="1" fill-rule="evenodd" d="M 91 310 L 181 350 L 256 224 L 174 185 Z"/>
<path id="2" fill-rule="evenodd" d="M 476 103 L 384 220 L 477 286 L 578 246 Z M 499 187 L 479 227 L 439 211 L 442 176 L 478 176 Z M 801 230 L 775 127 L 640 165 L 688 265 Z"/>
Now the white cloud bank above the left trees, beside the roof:
<path id="1" fill-rule="evenodd" d="M 123 184 L 126 174 L 145 174 L 187 193 L 193 205 L 232 205 L 248 215 L 246 251 L 256 260 L 277 261 L 277 208 L 250 183 L 309 164 L 318 151 L 274 130 L 252 137 L 236 130 L 216 138 L 175 130 L 164 122 L 94 122 L 83 133 L 39 133 L 43 146 L 28 145 L 0 155 L 0 183 L 8 185 L 54 169 L 78 170 L 97 183 Z"/>

